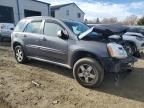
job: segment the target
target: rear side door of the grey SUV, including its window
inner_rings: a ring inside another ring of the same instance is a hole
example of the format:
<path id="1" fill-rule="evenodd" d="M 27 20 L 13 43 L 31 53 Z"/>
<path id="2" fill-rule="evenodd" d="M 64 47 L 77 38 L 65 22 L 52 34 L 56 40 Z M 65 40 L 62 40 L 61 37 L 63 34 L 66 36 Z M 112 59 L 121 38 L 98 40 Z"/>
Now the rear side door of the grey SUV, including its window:
<path id="1" fill-rule="evenodd" d="M 41 23 L 42 21 L 30 22 L 24 30 L 23 40 L 27 56 L 38 57 Z"/>

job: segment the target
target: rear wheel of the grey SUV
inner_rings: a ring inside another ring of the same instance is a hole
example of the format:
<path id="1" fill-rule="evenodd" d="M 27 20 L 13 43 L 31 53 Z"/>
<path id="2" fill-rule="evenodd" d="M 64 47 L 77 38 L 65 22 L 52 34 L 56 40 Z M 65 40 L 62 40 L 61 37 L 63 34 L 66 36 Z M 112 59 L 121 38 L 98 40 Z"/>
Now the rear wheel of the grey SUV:
<path id="1" fill-rule="evenodd" d="M 17 45 L 14 48 L 14 52 L 15 52 L 15 59 L 18 63 L 24 64 L 27 62 L 27 57 L 21 45 Z"/>

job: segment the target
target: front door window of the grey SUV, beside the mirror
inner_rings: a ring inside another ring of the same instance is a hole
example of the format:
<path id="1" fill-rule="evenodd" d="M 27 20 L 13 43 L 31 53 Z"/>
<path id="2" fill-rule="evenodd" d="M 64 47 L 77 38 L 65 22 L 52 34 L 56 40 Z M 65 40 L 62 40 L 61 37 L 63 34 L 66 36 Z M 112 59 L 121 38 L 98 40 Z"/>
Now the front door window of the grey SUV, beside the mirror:
<path id="1" fill-rule="evenodd" d="M 63 30 L 63 28 L 55 23 L 45 23 L 45 27 L 44 27 L 44 34 L 48 35 L 48 36 L 57 36 L 57 32 L 59 30 Z"/>

